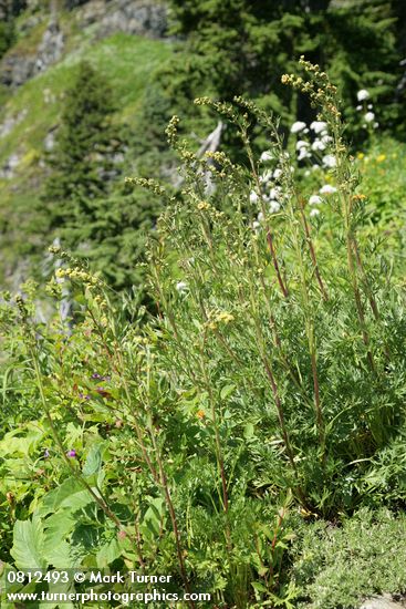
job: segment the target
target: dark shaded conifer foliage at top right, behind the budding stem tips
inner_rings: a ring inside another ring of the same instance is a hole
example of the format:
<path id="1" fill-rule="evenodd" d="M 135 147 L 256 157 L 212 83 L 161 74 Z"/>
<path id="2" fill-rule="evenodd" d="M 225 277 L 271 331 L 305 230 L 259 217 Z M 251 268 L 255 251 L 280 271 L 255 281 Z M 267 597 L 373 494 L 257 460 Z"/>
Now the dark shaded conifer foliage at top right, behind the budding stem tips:
<path id="1" fill-rule="evenodd" d="M 365 138 L 355 111 L 355 93 L 364 87 L 382 106 L 381 124 L 403 133 L 405 91 L 394 95 L 402 75 L 402 6 L 383 0 L 171 0 L 173 29 L 183 42 L 157 76 L 156 112 L 159 116 L 165 110 L 162 97 L 170 100 L 173 112 L 190 117 L 190 102 L 199 95 L 227 101 L 243 94 L 277 112 L 283 127 L 298 116 L 310 120 L 305 96 L 280 83 L 304 54 L 339 85 L 353 138 Z M 196 116 L 190 120 L 196 123 Z M 207 130 L 207 120 L 200 123 Z M 229 145 L 236 154 L 232 137 Z"/>

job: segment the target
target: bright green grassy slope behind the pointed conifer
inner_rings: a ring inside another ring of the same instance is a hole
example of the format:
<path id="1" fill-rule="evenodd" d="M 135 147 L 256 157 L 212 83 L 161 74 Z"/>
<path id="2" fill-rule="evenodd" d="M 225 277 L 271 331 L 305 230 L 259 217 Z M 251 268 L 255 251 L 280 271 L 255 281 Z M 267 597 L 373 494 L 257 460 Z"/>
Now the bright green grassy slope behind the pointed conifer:
<path id="1" fill-rule="evenodd" d="M 23 23 L 23 22 L 22 22 Z M 22 27 L 20 23 L 20 27 Z M 23 56 L 33 52 L 46 25 L 43 22 L 21 38 L 10 53 Z M 34 256 L 41 261 L 46 245 L 43 217 L 39 214 L 40 195 L 49 168 L 44 164 L 48 140 L 58 130 L 65 91 L 72 86 L 77 65 L 90 61 L 108 81 L 116 102 L 115 121 L 132 132 L 143 104 L 152 74 L 170 56 L 170 44 L 163 40 L 117 32 L 101 40 L 92 40 L 91 28 L 80 30 L 73 13 L 61 16 L 61 28 L 66 35 L 63 58 L 18 89 L 3 91 L 0 123 L 3 128 L 0 145 L 0 167 L 17 159 L 11 175 L 0 177 L 0 223 L 2 231 L 1 276 L 15 285 L 27 277 L 21 260 Z M 6 133 L 4 133 L 6 131 Z M 4 172 L 3 172 L 4 174 Z"/>

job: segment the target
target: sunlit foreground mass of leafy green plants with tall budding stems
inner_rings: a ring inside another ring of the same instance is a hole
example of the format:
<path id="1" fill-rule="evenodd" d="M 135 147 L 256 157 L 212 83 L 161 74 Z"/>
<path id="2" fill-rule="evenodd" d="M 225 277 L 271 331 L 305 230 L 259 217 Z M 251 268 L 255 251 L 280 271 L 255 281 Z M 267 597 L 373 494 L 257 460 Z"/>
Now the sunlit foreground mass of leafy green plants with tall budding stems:
<path id="1" fill-rule="evenodd" d="M 325 598 L 350 609 L 404 591 L 382 556 L 364 577 L 404 527 L 404 289 L 379 202 L 364 194 L 365 156 L 355 162 L 345 145 L 336 90 L 302 66 L 308 83 L 283 80 L 320 106 L 329 166 L 303 167 L 251 102 L 205 99 L 240 137 L 243 162 L 198 158 L 174 117 L 183 197 L 129 180 L 164 207 L 148 247 L 157 316 L 140 307 L 129 322 L 60 248 L 50 322 L 35 313 L 34 286 L 6 295 L 0 539 L 12 569 L 170 574 L 168 591 L 210 592 L 211 603 L 190 608 Z M 260 158 L 253 121 L 269 142 Z M 346 556 L 360 578 L 340 597 Z"/>

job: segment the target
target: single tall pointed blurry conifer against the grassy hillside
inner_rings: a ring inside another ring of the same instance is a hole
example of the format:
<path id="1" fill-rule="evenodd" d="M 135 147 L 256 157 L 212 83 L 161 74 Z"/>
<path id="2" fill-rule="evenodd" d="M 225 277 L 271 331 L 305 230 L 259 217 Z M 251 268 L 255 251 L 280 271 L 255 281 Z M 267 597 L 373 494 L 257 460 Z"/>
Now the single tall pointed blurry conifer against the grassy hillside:
<path id="1" fill-rule="evenodd" d="M 118 173 L 114 155 L 122 143 L 113 125 L 114 110 L 108 83 L 89 63 L 81 63 L 65 95 L 43 197 L 51 228 L 61 227 L 67 245 L 81 240 L 82 228 L 94 216 L 93 202 L 108 193 Z"/>

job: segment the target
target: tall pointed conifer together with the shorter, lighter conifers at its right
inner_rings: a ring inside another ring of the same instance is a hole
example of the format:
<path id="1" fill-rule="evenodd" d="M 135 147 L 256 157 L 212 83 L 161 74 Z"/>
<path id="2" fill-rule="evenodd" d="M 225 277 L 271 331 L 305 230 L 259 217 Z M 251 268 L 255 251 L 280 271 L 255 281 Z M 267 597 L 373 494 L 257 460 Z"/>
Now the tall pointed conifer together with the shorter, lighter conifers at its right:
<path id="1" fill-rule="evenodd" d="M 46 214 L 48 238 L 51 230 L 74 255 L 85 256 L 112 288 L 136 285 L 142 291 L 135 266 L 158 210 L 150 196 L 136 196 L 118 182 L 125 144 L 114 111 L 107 81 L 80 64 L 64 100 L 40 213 Z"/>

